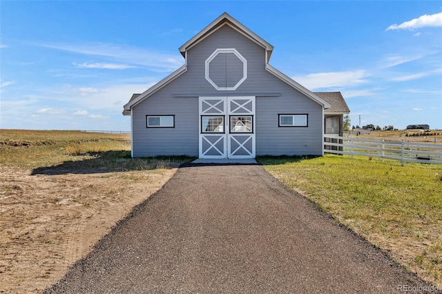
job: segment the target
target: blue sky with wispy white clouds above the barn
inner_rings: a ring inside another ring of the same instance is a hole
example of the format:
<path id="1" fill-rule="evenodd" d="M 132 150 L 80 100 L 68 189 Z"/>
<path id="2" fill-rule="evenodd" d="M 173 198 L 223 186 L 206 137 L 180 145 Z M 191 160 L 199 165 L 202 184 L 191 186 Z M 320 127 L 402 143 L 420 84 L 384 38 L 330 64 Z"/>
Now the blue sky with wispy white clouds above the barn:
<path id="1" fill-rule="evenodd" d="M 132 93 L 228 12 L 352 125 L 442 129 L 442 1 L 0 1 L 0 128 L 130 130 Z"/>

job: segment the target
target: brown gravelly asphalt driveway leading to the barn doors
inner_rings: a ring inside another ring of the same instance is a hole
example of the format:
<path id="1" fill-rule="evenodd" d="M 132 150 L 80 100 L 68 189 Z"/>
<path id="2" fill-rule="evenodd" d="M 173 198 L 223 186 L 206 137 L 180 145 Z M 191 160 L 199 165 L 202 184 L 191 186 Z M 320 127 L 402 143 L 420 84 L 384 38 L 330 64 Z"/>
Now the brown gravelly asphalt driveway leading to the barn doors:
<path id="1" fill-rule="evenodd" d="M 191 165 L 46 292 L 401 293 L 405 285 L 430 286 L 262 166 Z"/>

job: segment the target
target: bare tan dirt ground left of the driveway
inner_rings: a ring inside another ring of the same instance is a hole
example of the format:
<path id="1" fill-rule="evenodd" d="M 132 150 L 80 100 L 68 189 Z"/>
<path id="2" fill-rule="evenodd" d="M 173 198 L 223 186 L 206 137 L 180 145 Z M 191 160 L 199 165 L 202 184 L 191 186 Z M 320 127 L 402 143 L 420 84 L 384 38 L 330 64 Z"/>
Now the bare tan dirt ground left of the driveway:
<path id="1" fill-rule="evenodd" d="M 0 293 L 41 293 L 174 169 L 32 175 L 0 166 Z"/>

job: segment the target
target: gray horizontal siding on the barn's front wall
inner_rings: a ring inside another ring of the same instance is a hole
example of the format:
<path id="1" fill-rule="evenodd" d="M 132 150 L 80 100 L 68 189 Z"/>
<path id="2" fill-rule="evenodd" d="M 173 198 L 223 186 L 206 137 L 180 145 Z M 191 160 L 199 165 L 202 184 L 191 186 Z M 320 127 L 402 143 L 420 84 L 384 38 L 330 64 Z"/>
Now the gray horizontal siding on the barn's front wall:
<path id="1" fill-rule="evenodd" d="M 247 79 L 236 91 L 218 91 L 205 79 L 205 61 L 218 48 L 235 48 L 247 59 Z M 133 153 L 198 156 L 198 96 L 280 93 L 256 97 L 256 155 L 322 154 L 322 106 L 265 70 L 265 49 L 224 26 L 191 48 L 187 71 L 133 110 Z M 191 94 L 195 97 L 173 97 Z M 307 113 L 306 128 L 278 127 L 280 113 Z M 146 128 L 146 115 L 175 115 L 175 128 Z"/>

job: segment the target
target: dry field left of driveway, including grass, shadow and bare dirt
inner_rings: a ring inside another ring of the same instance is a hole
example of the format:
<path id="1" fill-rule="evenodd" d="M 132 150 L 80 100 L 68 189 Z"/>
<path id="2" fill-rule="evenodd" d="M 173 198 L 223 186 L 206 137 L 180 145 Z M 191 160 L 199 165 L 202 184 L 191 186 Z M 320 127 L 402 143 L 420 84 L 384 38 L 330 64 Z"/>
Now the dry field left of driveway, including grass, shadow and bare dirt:
<path id="1" fill-rule="evenodd" d="M 190 160 L 130 148 L 130 135 L 0 130 L 0 293 L 57 282 Z"/>

